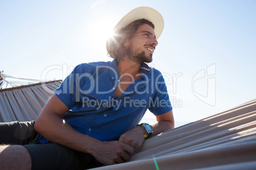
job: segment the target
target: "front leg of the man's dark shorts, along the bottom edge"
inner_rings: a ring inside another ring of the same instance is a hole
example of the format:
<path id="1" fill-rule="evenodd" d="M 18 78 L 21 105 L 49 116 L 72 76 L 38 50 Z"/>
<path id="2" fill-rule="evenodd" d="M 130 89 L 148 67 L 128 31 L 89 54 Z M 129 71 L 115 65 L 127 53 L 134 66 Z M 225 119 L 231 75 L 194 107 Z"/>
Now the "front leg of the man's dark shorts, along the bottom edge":
<path id="1" fill-rule="evenodd" d="M 94 157 L 57 143 L 24 145 L 31 155 L 32 169 L 89 169 L 96 167 Z"/>

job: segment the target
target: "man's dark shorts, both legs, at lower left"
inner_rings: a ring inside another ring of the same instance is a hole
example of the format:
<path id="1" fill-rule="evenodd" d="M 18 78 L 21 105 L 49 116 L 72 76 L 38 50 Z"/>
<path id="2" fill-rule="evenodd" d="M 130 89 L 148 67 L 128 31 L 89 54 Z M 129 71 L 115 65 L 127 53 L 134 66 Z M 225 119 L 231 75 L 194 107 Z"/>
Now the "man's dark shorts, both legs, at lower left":
<path id="1" fill-rule="evenodd" d="M 23 145 L 31 155 L 32 169 L 89 169 L 94 157 L 57 143 L 41 144 L 34 121 L 0 123 L 0 144 Z"/>

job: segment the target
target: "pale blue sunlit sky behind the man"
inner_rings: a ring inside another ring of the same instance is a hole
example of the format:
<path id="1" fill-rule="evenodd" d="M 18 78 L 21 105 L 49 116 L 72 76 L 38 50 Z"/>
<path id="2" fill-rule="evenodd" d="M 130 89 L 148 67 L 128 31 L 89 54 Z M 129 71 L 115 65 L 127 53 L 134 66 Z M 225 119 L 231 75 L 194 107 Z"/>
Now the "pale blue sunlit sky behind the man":
<path id="1" fill-rule="evenodd" d="M 197 121 L 256 96 L 256 1 L 0 1 L 0 70 L 64 79 L 111 60 L 106 37 L 127 12 L 164 17 L 151 67 L 164 75 L 177 121 Z M 150 113 L 147 118 L 152 118 Z"/>

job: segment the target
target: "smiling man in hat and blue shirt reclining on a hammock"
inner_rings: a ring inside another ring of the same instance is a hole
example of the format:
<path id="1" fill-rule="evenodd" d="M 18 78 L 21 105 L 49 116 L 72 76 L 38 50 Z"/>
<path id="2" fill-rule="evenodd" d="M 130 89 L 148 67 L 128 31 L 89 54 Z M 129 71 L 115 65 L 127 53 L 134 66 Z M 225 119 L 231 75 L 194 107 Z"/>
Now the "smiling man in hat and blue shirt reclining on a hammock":
<path id="1" fill-rule="evenodd" d="M 41 110 L 36 131 L 33 122 L 0 126 L 1 133 L 10 127 L 25 127 L 23 133 L 29 134 L 20 137 L 25 138 L 22 142 L 9 142 L 22 145 L 1 147 L 0 169 L 86 169 L 118 164 L 138 152 L 145 136 L 174 128 L 164 79 L 145 64 L 152 62 L 163 27 L 162 16 L 152 8 L 136 8 L 125 15 L 106 44 L 115 59 L 78 65 Z M 136 126 L 147 108 L 157 122 Z"/>

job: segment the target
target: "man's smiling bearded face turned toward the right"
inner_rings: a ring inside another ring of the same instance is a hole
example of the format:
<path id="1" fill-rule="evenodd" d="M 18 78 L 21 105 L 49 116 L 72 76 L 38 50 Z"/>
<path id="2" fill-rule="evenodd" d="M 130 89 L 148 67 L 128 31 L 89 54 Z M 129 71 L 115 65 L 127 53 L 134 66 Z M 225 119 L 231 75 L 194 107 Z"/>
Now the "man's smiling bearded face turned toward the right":
<path id="1" fill-rule="evenodd" d="M 125 43 L 127 48 L 126 55 L 134 62 L 150 63 L 153 60 L 152 55 L 157 44 L 153 28 L 144 23 L 139 25 L 132 39 Z"/>

